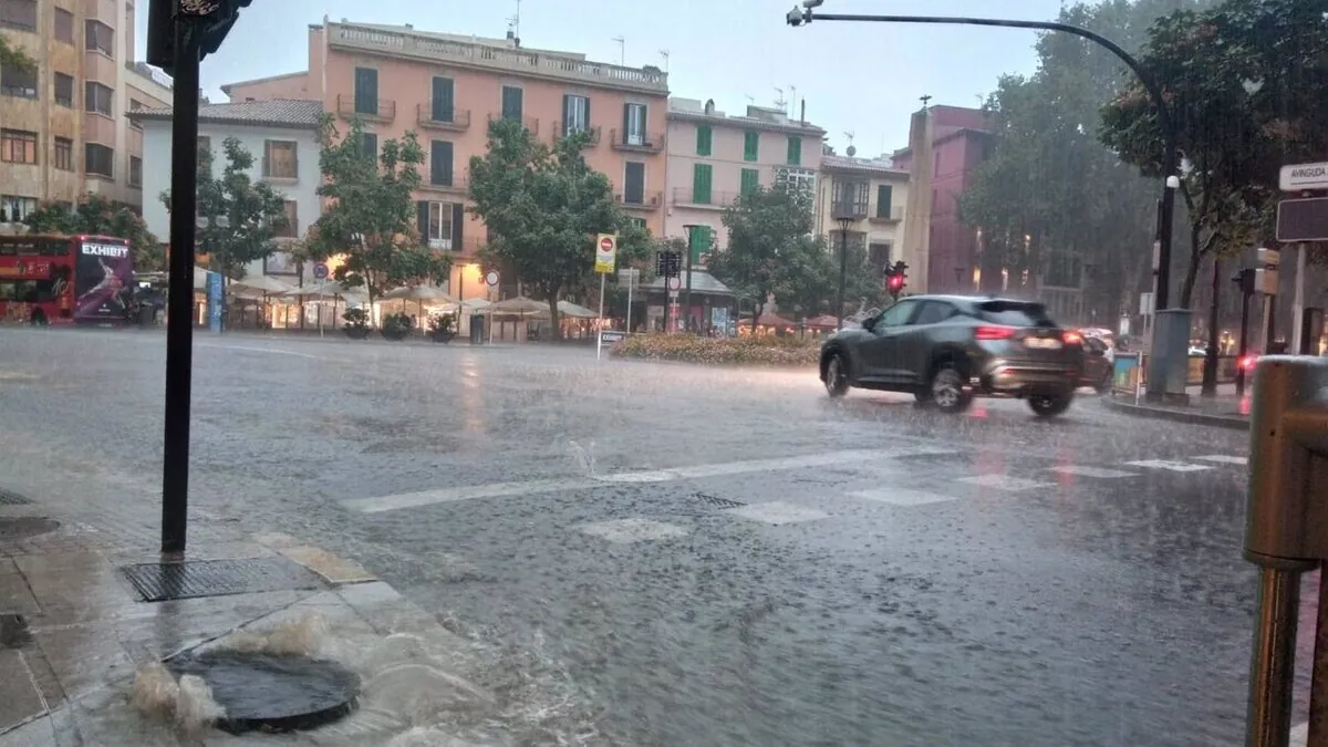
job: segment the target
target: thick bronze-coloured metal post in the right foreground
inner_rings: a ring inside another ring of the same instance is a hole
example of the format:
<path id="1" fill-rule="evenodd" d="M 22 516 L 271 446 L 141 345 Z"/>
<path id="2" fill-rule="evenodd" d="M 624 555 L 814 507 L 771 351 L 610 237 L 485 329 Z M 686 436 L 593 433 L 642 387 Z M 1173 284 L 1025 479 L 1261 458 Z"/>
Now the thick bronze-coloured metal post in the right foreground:
<path id="1" fill-rule="evenodd" d="M 1328 359 L 1266 356 L 1255 370 L 1244 557 L 1260 569 L 1246 744 L 1287 747 L 1300 576 L 1328 561 Z M 1328 747 L 1323 580 L 1307 747 Z"/>

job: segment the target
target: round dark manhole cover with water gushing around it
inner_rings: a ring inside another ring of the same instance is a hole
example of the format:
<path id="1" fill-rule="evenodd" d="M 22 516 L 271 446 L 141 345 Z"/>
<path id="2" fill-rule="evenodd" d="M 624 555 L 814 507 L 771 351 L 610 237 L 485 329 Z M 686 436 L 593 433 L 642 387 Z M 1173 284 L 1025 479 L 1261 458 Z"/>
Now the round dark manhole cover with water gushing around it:
<path id="1" fill-rule="evenodd" d="M 231 734 L 315 728 L 349 714 L 360 694 L 359 675 L 304 657 L 214 651 L 165 663 L 175 677 L 198 675 L 212 689 L 226 708 L 216 727 Z"/>

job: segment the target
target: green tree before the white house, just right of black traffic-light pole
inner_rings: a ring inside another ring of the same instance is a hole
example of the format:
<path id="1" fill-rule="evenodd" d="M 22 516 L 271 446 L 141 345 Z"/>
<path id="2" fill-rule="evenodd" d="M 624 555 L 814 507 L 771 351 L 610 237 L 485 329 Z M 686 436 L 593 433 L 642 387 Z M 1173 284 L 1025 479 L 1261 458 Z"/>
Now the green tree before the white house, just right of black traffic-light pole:
<path id="1" fill-rule="evenodd" d="M 206 254 L 212 270 L 240 279 L 251 262 L 276 251 L 276 231 L 286 226 L 286 197 L 267 182 L 250 178 L 254 156 L 238 138 L 222 142 L 226 167 L 215 173 L 211 149 L 198 149 L 197 209 L 207 225 L 197 229 L 198 254 Z M 170 190 L 161 194 L 170 210 Z M 219 218 L 224 218 L 220 221 Z"/>

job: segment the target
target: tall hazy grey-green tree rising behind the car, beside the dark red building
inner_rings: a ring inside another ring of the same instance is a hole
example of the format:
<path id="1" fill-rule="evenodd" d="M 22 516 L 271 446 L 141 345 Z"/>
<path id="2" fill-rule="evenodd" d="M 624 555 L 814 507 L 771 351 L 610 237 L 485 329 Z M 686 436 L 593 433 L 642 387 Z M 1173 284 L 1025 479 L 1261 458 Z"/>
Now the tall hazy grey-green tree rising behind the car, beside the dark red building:
<path id="1" fill-rule="evenodd" d="M 1175 0 L 1078 3 L 1057 20 L 1133 52 L 1149 24 L 1175 7 Z M 1045 284 L 1078 286 L 1086 276 L 1088 306 L 1114 316 L 1149 276 L 1159 193 L 1157 181 L 1097 138 L 1102 104 L 1133 73 L 1070 35 L 1044 35 L 1036 51 L 1037 70 L 1000 78 L 987 101 L 992 153 L 960 198 L 960 217 L 981 230 L 984 276 L 1005 271 L 1011 288 L 1025 272 L 1029 283 Z"/>

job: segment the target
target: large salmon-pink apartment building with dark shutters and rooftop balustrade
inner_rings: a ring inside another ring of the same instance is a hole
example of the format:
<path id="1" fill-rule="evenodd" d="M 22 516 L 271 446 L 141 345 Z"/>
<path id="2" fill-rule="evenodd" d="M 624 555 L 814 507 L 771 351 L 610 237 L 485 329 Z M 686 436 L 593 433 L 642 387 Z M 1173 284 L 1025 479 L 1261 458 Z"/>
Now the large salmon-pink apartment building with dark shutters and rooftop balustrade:
<path id="1" fill-rule="evenodd" d="M 462 298 L 485 292 L 478 249 L 486 234 L 465 211 L 466 170 L 471 156 L 483 156 L 494 118 L 521 120 L 544 142 L 592 130 L 591 167 L 608 175 L 629 215 L 664 234 L 668 76 L 652 66 L 529 49 L 510 33 L 478 39 L 324 19 L 309 27 L 308 70 L 222 90 L 231 101 L 321 101 L 341 128 L 359 116 L 373 142 L 416 132 L 428 152 L 416 195 L 420 230 L 454 254 L 452 292 Z"/>

